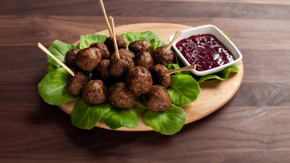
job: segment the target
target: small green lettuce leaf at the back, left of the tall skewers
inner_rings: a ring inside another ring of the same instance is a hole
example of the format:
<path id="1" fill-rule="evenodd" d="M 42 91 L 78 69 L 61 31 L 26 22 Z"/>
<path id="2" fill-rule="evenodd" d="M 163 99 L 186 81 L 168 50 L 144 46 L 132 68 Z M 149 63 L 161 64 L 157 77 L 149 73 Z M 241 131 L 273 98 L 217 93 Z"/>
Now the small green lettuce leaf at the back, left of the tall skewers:
<path id="1" fill-rule="evenodd" d="M 80 48 L 81 49 L 87 48 L 94 42 L 104 43 L 106 38 L 107 36 L 105 35 L 97 35 L 97 34 L 81 35 Z"/>

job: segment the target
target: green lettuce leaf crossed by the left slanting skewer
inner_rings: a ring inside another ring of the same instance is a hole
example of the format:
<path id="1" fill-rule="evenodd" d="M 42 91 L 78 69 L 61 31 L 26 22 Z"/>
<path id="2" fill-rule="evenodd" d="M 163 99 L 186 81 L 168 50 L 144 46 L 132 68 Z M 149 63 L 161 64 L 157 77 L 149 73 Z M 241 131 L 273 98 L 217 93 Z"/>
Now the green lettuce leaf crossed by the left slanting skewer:
<path id="1" fill-rule="evenodd" d="M 77 45 L 66 44 L 59 40 L 53 41 L 53 43 L 48 47 L 48 51 L 51 52 L 57 59 L 64 63 L 64 57 L 68 50 L 73 48 L 79 48 Z M 54 59 L 47 55 L 47 62 L 55 68 L 61 67 Z"/>

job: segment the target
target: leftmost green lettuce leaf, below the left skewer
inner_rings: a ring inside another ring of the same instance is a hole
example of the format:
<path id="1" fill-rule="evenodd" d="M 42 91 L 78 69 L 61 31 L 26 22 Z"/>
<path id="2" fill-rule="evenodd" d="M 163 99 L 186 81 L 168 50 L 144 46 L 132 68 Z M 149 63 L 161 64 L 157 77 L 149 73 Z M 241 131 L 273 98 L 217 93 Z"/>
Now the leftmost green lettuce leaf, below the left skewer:
<path id="1" fill-rule="evenodd" d="M 62 105 L 78 99 L 67 93 L 68 72 L 64 68 L 57 68 L 47 73 L 37 85 L 38 93 L 43 101 L 50 105 Z"/>

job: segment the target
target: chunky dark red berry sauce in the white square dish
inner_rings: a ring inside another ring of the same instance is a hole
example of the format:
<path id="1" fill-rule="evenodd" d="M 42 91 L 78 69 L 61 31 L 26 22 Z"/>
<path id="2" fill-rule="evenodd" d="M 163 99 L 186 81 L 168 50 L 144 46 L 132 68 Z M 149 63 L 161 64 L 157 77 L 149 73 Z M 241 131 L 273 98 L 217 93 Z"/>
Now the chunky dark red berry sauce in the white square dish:
<path id="1" fill-rule="evenodd" d="M 193 35 L 180 40 L 177 49 L 196 70 L 203 71 L 235 60 L 233 54 L 211 34 Z"/>

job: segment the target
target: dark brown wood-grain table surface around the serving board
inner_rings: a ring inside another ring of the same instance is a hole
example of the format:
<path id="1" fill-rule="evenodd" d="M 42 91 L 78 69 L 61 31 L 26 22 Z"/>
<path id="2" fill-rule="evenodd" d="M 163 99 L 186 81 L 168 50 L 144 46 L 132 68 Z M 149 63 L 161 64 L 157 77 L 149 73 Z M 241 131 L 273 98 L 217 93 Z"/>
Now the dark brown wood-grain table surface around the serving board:
<path id="1" fill-rule="evenodd" d="M 82 130 L 42 101 L 46 47 L 106 29 L 97 0 L 0 2 L 0 162 L 289 162 L 290 1 L 104 1 L 115 25 L 213 24 L 243 54 L 242 85 L 173 136 Z"/>

